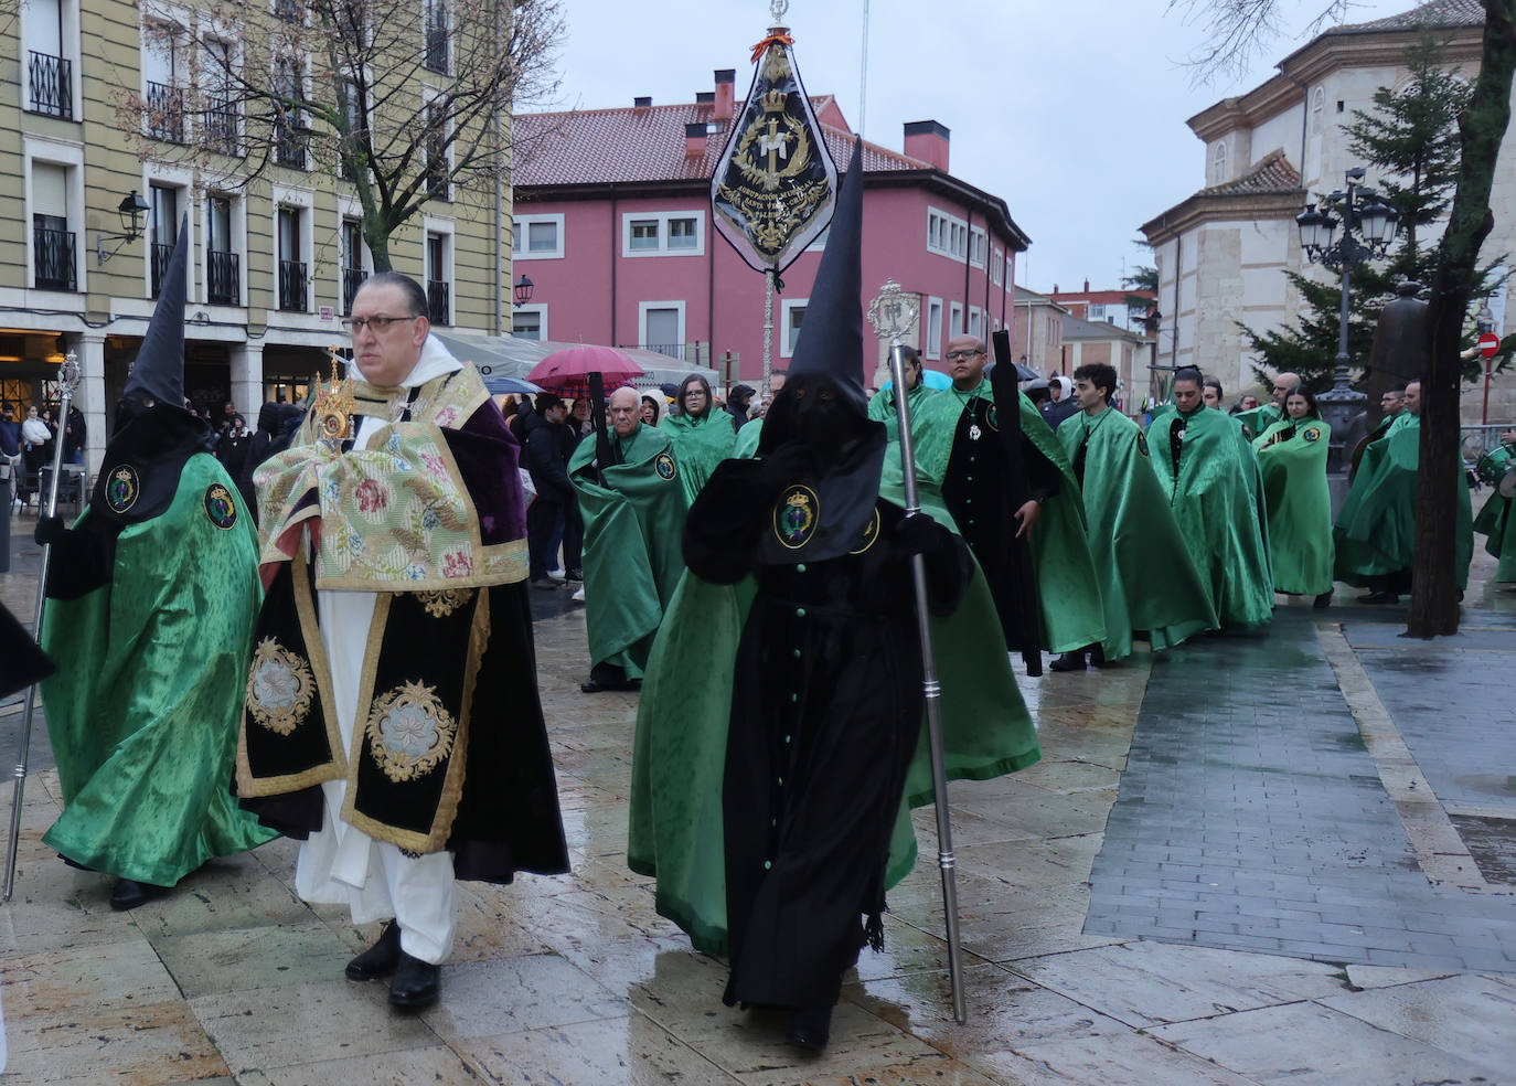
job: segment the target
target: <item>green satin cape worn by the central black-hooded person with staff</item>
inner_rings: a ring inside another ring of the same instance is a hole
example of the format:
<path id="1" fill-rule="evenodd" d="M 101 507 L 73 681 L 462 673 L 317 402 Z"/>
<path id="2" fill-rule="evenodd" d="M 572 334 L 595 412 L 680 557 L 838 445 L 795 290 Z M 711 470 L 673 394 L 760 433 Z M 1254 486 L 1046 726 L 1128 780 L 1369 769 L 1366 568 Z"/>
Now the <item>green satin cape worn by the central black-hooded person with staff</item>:
<path id="1" fill-rule="evenodd" d="M 887 472 L 879 490 L 902 504 L 897 482 L 899 467 L 893 481 Z M 940 499 L 926 490 L 922 508 L 952 526 Z M 752 599 L 752 578 L 714 585 L 687 572 L 653 643 L 637 708 L 626 863 L 658 878 L 658 913 L 708 954 L 726 953 L 722 774 L 737 645 Z M 978 566 L 958 610 L 934 617 L 931 626 L 948 778 L 987 780 L 1035 763 L 1041 757 L 1037 731 L 1016 689 L 994 602 Z M 885 886 L 897 884 L 916 862 L 910 807 L 935 798 L 925 731 L 923 719 L 890 842 Z"/>

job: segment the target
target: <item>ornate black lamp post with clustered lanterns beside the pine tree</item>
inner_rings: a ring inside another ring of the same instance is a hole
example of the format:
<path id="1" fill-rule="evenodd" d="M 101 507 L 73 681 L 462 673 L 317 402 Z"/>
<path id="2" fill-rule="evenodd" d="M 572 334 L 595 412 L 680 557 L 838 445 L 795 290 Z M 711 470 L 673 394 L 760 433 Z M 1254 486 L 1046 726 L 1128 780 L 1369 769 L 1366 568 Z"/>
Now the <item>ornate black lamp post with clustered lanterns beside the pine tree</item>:
<path id="1" fill-rule="evenodd" d="M 1361 185 L 1361 180 L 1363 167 L 1355 165 L 1346 173 L 1346 191 L 1337 190 L 1319 206 L 1307 205 L 1305 211 L 1295 217 L 1295 224 L 1301 231 L 1301 249 L 1305 250 L 1311 264 L 1320 262 L 1342 273 L 1342 308 L 1337 314 L 1337 372 L 1333 375 L 1333 387 L 1316 397 L 1333 432 L 1328 458 L 1328 470 L 1331 472 L 1342 470 L 1348 422 L 1363 410 L 1366 399 L 1363 393 L 1349 387 L 1348 376 L 1348 297 L 1352 265 L 1384 256 L 1384 250 L 1395 240 L 1395 226 L 1401 217 L 1395 208 L 1380 200 L 1372 188 Z M 1333 215 L 1334 211 L 1340 218 Z M 1339 223 L 1342 224 L 1342 237 L 1333 240 Z"/>

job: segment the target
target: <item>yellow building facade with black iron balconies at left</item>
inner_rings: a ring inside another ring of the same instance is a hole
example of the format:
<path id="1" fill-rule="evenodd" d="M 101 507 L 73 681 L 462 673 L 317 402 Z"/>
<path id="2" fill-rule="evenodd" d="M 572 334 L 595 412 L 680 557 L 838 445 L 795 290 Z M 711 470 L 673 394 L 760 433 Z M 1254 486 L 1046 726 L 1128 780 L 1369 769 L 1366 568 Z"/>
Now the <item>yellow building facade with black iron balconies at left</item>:
<path id="1" fill-rule="evenodd" d="M 438 11 L 417 0 L 420 59 L 406 71 L 418 118 L 449 82 Z M 252 428 L 262 402 L 299 399 L 346 341 L 341 317 L 373 270 L 335 153 L 321 161 L 305 130 L 250 153 L 270 144 L 267 130 L 253 138 L 267 106 L 214 74 L 249 62 L 223 12 L 209 0 L 21 0 L 0 23 L 0 396 L 18 416 L 41 406 L 76 352 L 91 476 L 182 215 L 185 391 L 214 419 L 230 402 Z M 306 18 L 291 0 L 267 15 Z M 390 237 L 391 265 L 428 287 L 434 325 L 509 332 L 509 188 L 432 194 Z"/>

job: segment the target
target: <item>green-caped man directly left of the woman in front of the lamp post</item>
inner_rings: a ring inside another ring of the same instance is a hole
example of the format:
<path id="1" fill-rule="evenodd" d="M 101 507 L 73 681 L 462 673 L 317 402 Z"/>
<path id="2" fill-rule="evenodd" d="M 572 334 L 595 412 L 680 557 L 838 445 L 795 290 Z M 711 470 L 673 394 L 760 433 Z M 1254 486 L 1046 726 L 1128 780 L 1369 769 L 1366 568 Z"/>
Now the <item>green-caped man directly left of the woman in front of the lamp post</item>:
<path id="1" fill-rule="evenodd" d="M 1236 422 L 1205 406 L 1201 384 L 1199 370 L 1173 375 L 1175 410 L 1148 429 L 1149 463 L 1222 628 L 1260 626 L 1273 617 L 1273 576 L 1249 485 L 1257 466 Z"/>

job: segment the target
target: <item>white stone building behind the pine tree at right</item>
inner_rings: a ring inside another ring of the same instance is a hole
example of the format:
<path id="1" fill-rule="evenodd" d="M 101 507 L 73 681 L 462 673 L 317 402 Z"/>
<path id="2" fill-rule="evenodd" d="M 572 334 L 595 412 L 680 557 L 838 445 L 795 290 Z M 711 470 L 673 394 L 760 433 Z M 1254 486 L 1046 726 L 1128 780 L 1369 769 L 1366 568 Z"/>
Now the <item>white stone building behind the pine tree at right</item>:
<path id="1" fill-rule="evenodd" d="M 1292 325 L 1299 299 L 1283 272 L 1333 278 L 1301 250 L 1295 217 L 1307 196 L 1343 188 L 1355 159 L 1343 124 L 1373 109 L 1381 86 L 1408 77 L 1405 52 L 1431 26 L 1445 64 L 1478 73 L 1484 8 L 1478 0 L 1433 0 L 1399 15 L 1326 30 L 1276 67 L 1280 74 L 1189 120 L 1205 143 L 1205 187 L 1145 223 L 1158 267 L 1158 363 L 1199 366 L 1228 391 L 1255 384 L 1257 356 L 1237 322 L 1264 332 Z M 1481 261 L 1516 253 L 1516 127 L 1507 133 L 1490 197 L 1495 229 Z M 1366 184 L 1380 176 L 1370 167 Z M 1427 238 L 1424 240 L 1436 240 Z M 1490 299 L 1499 334 L 1511 331 L 1510 293 Z M 1481 388 L 1464 387 L 1463 416 L 1478 422 Z M 1516 419 L 1516 379 L 1495 378 L 1490 419 Z"/>

